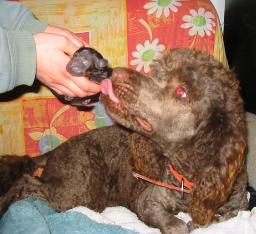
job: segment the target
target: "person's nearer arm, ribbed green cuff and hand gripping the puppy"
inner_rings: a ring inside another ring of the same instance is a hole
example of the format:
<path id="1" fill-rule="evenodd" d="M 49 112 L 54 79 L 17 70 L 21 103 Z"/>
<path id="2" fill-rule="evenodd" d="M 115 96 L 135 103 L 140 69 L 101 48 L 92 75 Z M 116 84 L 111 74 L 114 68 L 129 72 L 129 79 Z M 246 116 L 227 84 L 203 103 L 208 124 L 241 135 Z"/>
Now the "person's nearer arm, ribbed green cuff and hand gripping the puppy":
<path id="1" fill-rule="evenodd" d="M 84 45 L 72 35 L 71 39 L 54 33 L 32 35 L 0 27 L 0 93 L 22 84 L 30 86 L 35 76 L 58 94 L 83 97 L 100 92 L 99 85 L 66 71 L 73 53 Z"/>

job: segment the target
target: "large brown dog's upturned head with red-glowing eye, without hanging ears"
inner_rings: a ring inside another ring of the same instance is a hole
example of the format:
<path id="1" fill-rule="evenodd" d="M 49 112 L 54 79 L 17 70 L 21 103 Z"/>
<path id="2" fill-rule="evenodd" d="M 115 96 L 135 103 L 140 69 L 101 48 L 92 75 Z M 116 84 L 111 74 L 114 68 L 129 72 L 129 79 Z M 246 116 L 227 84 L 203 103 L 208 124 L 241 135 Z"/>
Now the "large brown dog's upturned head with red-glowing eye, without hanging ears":
<path id="1" fill-rule="evenodd" d="M 233 79 L 229 80 L 233 73 L 206 52 L 167 51 L 151 68 L 150 76 L 114 68 L 112 83 L 106 80 L 102 85 L 103 93 L 110 95 L 101 95 L 101 102 L 117 123 L 159 145 L 189 143 L 205 119 L 217 127 L 223 121 L 222 112 L 233 111 L 237 105 L 226 106 L 233 92 Z"/>

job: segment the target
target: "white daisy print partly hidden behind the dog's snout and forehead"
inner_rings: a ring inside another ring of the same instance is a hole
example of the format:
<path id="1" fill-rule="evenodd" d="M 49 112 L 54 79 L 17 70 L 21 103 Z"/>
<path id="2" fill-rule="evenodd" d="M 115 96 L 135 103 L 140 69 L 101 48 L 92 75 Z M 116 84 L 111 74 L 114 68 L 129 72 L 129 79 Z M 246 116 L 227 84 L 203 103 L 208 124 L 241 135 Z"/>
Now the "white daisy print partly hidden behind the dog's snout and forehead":
<path id="1" fill-rule="evenodd" d="M 155 58 L 161 57 L 161 51 L 164 51 L 165 46 L 163 44 L 158 45 L 158 38 L 150 44 L 149 40 L 145 41 L 144 46 L 142 44 L 136 45 L 136 50 L 132 52 L 132 56 L 136 59 L 133 59 L 130 64 L 132 66 L 136 66 L 136 70 L 140 72 L 142 67 L 144 67 L 144 72 L 149 72 L 149 64 Z"/>

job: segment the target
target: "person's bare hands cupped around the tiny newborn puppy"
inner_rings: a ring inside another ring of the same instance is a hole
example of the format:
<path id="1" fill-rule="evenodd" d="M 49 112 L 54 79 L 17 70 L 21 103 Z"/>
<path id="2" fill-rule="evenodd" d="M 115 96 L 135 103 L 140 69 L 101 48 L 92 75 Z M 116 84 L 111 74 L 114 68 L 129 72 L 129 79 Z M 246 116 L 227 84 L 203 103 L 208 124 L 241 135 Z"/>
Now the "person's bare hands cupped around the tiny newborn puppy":
<path id="1" fill-rule="evenodd" d="M 61 34 L 57 34 L 61 33 Z M 72 76 L 66 65 L 81 46 L 89 46 L 67 29 L 49 25 L 44 33 L 34 34 L 37 52 L 36 77 L 59 95 L 85 97 L 100 92 L 100 86 L 87 77 Z"/>

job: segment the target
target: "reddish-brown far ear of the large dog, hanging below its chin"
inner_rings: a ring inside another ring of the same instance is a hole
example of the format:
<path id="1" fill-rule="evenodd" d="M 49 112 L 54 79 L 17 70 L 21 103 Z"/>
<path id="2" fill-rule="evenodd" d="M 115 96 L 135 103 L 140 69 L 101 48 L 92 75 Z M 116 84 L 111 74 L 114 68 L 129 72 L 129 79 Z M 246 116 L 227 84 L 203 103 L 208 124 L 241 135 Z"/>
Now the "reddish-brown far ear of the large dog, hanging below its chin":
<path id="1" fill-rule="evenodd" d="M 158 180 L 165 167 L 162 158 L 162 151 L 154 141 L 135 132 L 132 134 L 131 166 L 136 172 Z"/>

